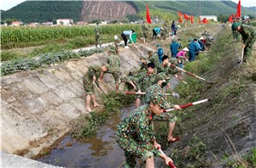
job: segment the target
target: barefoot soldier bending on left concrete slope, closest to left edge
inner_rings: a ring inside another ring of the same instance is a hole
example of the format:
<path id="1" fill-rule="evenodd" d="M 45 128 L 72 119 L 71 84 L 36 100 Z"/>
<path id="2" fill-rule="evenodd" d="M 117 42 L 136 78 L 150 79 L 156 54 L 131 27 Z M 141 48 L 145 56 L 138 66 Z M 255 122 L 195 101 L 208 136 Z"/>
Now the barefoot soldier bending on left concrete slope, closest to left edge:
<path id="1" fill-rule="evenodd" d="M 84 90 L 85 90 L 85 93 L 87 94 L 85 109 L 89 112 L 92 111 L 90 109 L 90 98 L 93 101 L 94 107 L 99 106 L 99 104 L 96 103 L 96 98 L 94 95 L 93 81 L 97 82 L 101 73 L 107 71 L 108 68 L 109 68 L 108 64 L 103 64 L 102 67 L 98 65 L 92 65 L 88 68 L 88 70 L 85 72 L 83 76 Z"/>

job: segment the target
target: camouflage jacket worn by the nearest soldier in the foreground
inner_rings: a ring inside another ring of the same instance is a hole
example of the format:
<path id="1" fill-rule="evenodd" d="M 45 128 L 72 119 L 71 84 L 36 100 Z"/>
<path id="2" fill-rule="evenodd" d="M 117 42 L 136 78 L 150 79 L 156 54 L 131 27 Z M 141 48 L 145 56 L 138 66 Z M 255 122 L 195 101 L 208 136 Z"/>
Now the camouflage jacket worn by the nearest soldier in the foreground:
<path id="1" fill-rule="evenodd" d="M 117 136 L 126 138 L 127 143 L 137 142 L 139 144 L 137 150 L 143 152 L 146 149 L 157 157 L 160 151 L 154 148 L 154 123 L 149 119 L 150 116 L 154 119 L 155 115 L 151 115 L 148 104 L 134 109 L 119 123 Z"/>

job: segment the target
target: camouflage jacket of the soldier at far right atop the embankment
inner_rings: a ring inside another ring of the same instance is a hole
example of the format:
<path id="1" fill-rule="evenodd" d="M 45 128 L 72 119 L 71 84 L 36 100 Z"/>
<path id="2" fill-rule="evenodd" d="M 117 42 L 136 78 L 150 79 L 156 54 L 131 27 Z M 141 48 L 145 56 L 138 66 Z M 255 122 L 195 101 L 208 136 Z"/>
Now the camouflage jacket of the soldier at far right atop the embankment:
<path id="1" fill-rule="evenodd" d="M 239 32 L 242 36 L 243 43 L 246 46 L 248 42 L 255 41 L 255 31 L 253 30 L 252 26 L 241 24 L 241 31 Z"/>

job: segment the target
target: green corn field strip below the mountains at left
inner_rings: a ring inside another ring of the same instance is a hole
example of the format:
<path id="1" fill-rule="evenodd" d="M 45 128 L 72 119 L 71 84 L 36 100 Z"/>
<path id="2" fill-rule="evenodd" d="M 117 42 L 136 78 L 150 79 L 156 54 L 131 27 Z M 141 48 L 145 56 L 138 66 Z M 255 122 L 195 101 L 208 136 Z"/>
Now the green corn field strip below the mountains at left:
<path id="1" fill-rule="evenodd" d="M 120 35 L 122 31 L 134 30 L 141 34 L 141 25 L 102 25 L 102 35 Z M 19 42 L 42 42 L 57 38 L 95 36 L 93 25 L 2 27 L 1 45 Z"/>

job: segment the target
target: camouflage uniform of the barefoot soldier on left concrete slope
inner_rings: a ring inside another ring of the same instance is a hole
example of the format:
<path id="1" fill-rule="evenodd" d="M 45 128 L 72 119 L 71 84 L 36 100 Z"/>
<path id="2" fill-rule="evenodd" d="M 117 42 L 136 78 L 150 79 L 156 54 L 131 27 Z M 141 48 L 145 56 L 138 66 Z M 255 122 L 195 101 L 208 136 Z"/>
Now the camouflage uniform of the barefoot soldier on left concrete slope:
<path id="1" fill-rule="evenodd" d="M 86 94 L 93 94 L 94 87 L 93 87 L 93 76 L 96 76 L 96 80 L 100 77 L 102 73 L 102 68 L 98 65 L 92 65 L 89 69 L 85 72 L 83 76 L 83 83 L 84 83 L 84 90 Z"/>

